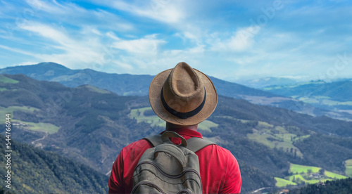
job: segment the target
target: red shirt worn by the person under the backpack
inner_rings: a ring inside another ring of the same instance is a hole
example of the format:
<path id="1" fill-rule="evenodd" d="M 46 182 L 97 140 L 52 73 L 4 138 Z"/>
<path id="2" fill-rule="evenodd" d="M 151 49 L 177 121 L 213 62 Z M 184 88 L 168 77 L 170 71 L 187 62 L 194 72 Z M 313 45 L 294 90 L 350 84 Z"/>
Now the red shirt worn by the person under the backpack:
<path id="1" fill-rule="evenodd" d="M 186 140 L 191 137 L 202 137 L 198 131 L 191 129 L 175 129 L 177 134 Z M 171 138 L 175 144 L 180 144 L 180 138 Z M 122 148 L 116 158 L 108 182 L 109 193 L 131 193 L 134 168 L 144 151 L 152 148 L 151 143 L 144 139 L 135 141 Z M 241 174 L 239 164 L 232 153 L 219 145 L 208 145 L 196 152 L 199 157 L 199 167 L 203 193 L 240 193 Z"/>

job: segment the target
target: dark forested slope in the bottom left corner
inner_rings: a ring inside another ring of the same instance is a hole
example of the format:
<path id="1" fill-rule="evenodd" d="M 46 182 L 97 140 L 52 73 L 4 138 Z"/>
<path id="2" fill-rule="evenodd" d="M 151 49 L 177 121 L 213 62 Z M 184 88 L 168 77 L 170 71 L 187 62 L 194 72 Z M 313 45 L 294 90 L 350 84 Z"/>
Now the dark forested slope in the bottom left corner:
<path id="1" fill-rule="evenodd" d="M 5 136 L 0 134 L 0 138 Z M 0 149 L 0 174 L 5 176 L 5 143 L 0 143 Z M 108 176 L 90 167 L 13 140 L 11 150 L 13 193 L 108 193 Z M 8 190 L 6 185 L 1 181 L 1 187 Z"/>

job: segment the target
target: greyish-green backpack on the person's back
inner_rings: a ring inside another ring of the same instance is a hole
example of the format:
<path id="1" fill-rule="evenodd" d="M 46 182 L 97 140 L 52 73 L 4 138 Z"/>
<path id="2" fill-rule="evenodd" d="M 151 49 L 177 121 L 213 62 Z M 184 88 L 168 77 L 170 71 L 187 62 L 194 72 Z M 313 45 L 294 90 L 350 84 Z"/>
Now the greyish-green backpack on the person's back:
<path id="1" fill-rule="evenodd" d="M 181 138 L 175 145 L 170 137 Z M 202 193 L 196 151 L 212 145 L 202 138 L 185 140 L 174 131 L 145 138 L 153 148 L 140 158 L 133 174 L 132 193 Z"/>

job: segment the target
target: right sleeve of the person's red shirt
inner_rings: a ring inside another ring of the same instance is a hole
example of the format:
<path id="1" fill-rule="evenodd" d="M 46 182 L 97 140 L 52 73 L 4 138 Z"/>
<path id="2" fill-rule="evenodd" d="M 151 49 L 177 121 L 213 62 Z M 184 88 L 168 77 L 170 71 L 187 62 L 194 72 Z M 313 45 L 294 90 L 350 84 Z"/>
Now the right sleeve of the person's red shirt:
<path id="1" fill-rule="evenodd" d="M 227 158 L 227 174 L 220 193 L 241 193 L 242 180 L 239 164 L 232 153 L 229 152 Z"/>

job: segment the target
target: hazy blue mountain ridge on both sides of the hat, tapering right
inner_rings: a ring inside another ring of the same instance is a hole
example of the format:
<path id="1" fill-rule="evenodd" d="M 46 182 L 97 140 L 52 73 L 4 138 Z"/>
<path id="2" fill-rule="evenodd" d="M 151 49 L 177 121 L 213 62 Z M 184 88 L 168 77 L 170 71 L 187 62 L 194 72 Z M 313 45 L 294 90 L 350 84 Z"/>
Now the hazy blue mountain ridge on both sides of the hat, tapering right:
<path id="1" fill-rule="evenodd" d="M 37 80 L 60 82 L 68 87 L 83 84 L 97 86 L 100 89 L 113 91 L 121 96 L 146 96 L 149 84 L 153 79 L 151 75 L 110 74 L 95 70 L 70 70 L 68 67 L 57 63 L 39 63 L 37 65 L 21 65 L 0 69 L 0 74 L 23 74 Z M 239 98 L 241 95 L 273 97 L 275 94 L 251 89 L 247 86 L 226 82 L 215 77 L 210 77 L 220 95 Z M 229 90 L 231 88 L 232 90 Z"/>

